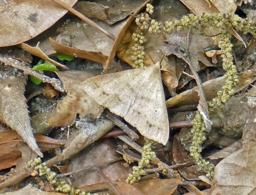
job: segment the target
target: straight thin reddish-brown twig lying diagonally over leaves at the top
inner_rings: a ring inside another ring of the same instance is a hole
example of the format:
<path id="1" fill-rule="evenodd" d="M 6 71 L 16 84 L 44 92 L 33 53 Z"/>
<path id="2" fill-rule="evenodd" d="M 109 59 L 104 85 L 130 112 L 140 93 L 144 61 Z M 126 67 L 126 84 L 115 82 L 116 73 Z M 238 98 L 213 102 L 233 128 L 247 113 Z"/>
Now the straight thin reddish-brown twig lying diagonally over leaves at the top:
<path id="1" fill-rule="evenodd" d="M 77 17 L 81 18 L 83 21 L 87 22 L 88 24 L 92 25 L 93 27 L 97 28 L 98 30 L 100 30 L 101 32 L 103 32 L 105 35 L 107 35 L 109 38 L 115 40 L 116 37 L 115 35 L 113 35 L 112 33 L 104 30 L 103 28 L 101 28 L 98 24 L 96 24 L 95 22 L 93 22 L 92 20 L 90 20 L 89 18 L 85 17 L 84 15 L 82 15 L 79 11 L 73 9 L 72 7 L 70 7 L 69 5 L 67 5 L 66 3 L 63 3 L 59 0 L 51 0 L 55 3 L 57 3 L 58 5 L 64 7 L 65 9 L 69 10 L 72 14 L 76 15 Z"/>

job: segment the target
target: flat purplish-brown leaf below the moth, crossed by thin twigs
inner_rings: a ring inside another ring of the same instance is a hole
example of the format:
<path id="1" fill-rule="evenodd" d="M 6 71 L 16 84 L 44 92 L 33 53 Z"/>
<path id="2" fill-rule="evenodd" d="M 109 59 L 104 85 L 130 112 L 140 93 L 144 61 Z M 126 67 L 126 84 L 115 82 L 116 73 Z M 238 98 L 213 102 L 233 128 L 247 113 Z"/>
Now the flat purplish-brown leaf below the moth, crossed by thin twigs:
<path id="1" fill-rule="evenodd" d="M 71 172 L 74 172 L 72 174 L 74 188 L 104 181 L 104 178 L 95 169 L 86 171 L 82 169 L 119 158 L 120 155 L 116 153 L 114 145 L 112 138 L 99 140 L 70 158 L 68 167 Z M 76 170 L 82 171 L 75 172 Z M 119 161 L 102 166 L 102 172 L 108 179 L 115 181 L 116 179 L 125 178 L 129 173 L 132 173 L 132 167 L 125 167 L 123 166 L 123 162 Z"/>

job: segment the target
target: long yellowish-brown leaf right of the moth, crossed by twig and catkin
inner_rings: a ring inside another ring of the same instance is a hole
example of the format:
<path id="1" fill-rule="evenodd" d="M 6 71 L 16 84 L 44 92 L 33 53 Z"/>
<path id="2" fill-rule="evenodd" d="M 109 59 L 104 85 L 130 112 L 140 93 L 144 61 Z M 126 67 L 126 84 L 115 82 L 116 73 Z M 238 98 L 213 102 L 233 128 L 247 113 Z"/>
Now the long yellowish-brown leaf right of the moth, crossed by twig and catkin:
<path id="1" fill-rule="evenodd" d="M 248 70 L 248 71 L 238 73 L 239 82 L 236 85 L 234 91 L 238 92 L 242 88 L 244 88 L 244 86 L 249 85 L 253 81 L 253 77 L 255 76 L 255 74 L 256 73 L 254 70 Z M 203 85 L 206 99 L 211 100 L 212 98 L 214 98 L 217 95 L 217 92 L 221 90 L 221 87 L 225 83 L 225 81 L 226 81 L 225 77 L 222 76 L 222 77 L 218 77 L 216 79 L 212 79 L 207 82 L 204 82 L 202 85 Z M 183 106 L 183 105 L 196 104 L 199 99 L 198 93 L 196 91 L 197 88 L 198 87 L 194 87 L 183 93 L 178 94 L 175 97 L 172 97 L 166 100 L 167 107 L 169 108 L 174 105 Z"/>

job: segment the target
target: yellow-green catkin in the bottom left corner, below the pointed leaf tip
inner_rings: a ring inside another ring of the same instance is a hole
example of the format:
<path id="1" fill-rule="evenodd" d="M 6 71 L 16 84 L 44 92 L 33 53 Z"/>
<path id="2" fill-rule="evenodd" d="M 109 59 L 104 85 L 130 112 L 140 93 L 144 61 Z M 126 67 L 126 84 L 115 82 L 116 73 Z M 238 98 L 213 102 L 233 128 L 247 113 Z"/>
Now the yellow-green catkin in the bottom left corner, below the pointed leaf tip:
<path id="1" fill-rule="evenodd" d="M 80 191 L 79 189 L 75 190 L 70 185 L 66 184 L 63 179 L 58 179 L 56 177 L 56 173 L 51 171 L 51 169 L 46 165 L 46 163 L 41 163 L 41 158 L 30 160 L 28 162 L 29 167 L 35 167 L 34 172 L 32 172 L 32 176 L 46 176 L 47 180 L 54 187 L 57 192 L 62 192 L 69 195 L 92 195 L 89 192 Z M 99 195 L 98 193 L 93 193 L 93 195 Z M 109 193 L 104 195 L 110 195 Z"/>

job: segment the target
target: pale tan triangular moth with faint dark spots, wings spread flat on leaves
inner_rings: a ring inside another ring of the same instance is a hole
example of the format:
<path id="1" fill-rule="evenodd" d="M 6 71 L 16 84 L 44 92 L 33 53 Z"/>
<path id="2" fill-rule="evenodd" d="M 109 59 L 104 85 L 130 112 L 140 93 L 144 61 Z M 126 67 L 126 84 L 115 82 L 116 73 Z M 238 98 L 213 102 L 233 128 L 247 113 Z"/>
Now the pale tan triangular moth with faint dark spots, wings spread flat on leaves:
<path id="1" fill-rule="evenodd" d="M 82 87 L 143 136 L 165 145 L 169 124 L 159 65 L 158 62 L 150 67 L 95 76 Z"/>

